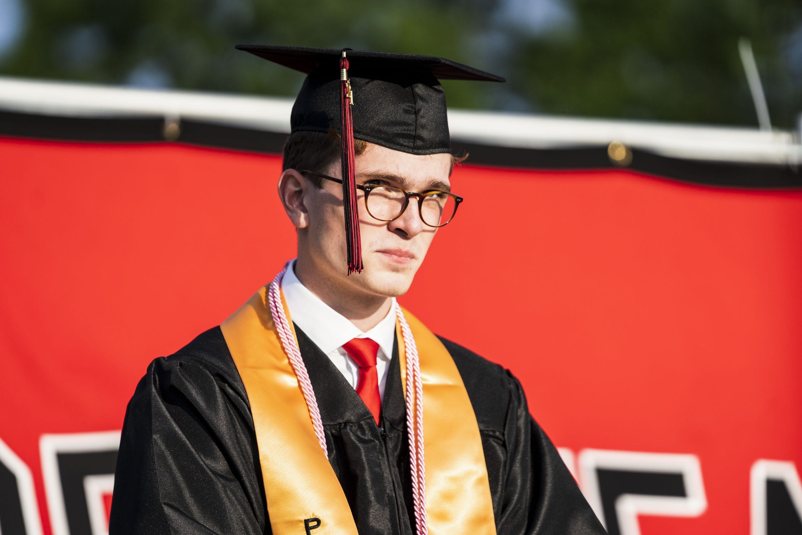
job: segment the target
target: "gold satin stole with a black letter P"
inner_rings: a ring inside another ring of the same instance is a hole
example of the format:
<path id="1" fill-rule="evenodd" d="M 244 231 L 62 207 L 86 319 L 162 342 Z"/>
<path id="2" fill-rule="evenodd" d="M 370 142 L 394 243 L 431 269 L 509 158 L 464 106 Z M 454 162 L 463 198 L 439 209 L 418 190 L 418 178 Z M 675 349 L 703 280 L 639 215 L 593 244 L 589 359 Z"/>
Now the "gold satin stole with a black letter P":
<path id="1" fill-rule="evenodd" d="M 308 529 L 314 535 L 357 535 L 346 496 L 314 435 L 266 292 L 263 286 L 221 329 L 248 395 L 270 525 L 275 535 L 305 535 Z M 290 318 L 286 303 L 284 307 Z M 443 343 L 407 310 L 403 314 L 418 347 L 423 382 L 429 533 L 495 535 L 479 426 L 460 372 Z M 396 331 L 406 389 L 403 337 L 397 324 Z"/>

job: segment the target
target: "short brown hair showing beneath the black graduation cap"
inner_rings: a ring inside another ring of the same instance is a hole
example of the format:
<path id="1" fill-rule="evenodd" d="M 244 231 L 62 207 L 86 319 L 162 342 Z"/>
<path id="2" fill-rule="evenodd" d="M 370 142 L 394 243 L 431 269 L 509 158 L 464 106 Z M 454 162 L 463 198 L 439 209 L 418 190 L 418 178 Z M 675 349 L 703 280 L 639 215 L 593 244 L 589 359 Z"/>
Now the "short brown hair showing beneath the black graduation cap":
<path id="1" fill-rule="evenodd" d="M 354 140 L 354 153 L 356 156 L 365 152 L 367 141 Z M 309 170 L 314 172 L 326 172 L 326 169 L 340 159 L 340 135 L 334 130 L 329 132 L 308 132 L 300 130 L 293 132 L 284 144 L 284 157 L 282 169 L 296 169 L 298 171 Z M 454 164 L 461 164 L 468 158 L 464 156 L 452 155 L 452 169 Z M 449 170 L 449 174 L 451 171 Z M 319 176 L 309 176 L 312 183 L 318 187 L 323 187 L 323 179 Z"/>

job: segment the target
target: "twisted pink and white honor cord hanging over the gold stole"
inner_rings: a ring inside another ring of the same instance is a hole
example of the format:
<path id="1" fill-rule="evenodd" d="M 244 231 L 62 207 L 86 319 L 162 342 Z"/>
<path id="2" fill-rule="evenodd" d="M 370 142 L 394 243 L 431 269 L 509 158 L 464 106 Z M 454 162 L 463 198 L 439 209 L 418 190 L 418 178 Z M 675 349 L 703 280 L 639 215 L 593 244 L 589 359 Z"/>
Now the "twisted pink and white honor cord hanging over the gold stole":
<path id="1" fill-rule="evenodd" d="M 282 347 L 290 359 L 298 384 L 301 385 L 303 397 L 306 400 L 306 407 L 309 408 L 309 415 L 312 419 L 314 434 L 318 437 L 318 443 L 323 450 L 323 454 L 328 456 L 326 449 L 326 435 L 323 432 L 323 422 L 320 419 L 320 409 L 318 400 L 314 397 L 312 383 L 309 380 L 309 373 L 306 365 L 301 358 L 301 351 L 298 343 L 295 342 L 293 330 L 287 315 L 284 313 L 282 303 L 282 278 L 290 268 L 292 261 L 284 265 L 284 269 L 273 278 L 273 282 L 267 291 L 267 301 L 270 306 L 270 314 L 276 324 L 278 338 L 282 342 Z M 395 307 L 395 316 L 401 326 L 403 336 L 404 353 L 407 361 L 407 434 L 409 436 L 409 464 L 412 477 L 412 503 L 415 507 L 415 532 L 417 535 L 427 535 L 428 527 L 426 522 L 426 464 L 423 462 L 423 383 L 420 379 L 420 362 L 418 358 L 418 348 L 415 346 L 415 338 L 404 318 L 401 307 L 398 303 Z M 411 386 L 410 386 L 411 385 Z M 414 418 L 413 418 L 414 415 Z"/>

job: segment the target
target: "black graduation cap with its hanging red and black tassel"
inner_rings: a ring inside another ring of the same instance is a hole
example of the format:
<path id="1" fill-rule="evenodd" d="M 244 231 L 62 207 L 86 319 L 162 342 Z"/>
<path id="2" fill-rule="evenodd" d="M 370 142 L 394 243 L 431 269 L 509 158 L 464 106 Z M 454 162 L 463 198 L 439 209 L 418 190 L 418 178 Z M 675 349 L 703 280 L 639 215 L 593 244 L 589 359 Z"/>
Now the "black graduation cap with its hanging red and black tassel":
<path id="1" fill-rule="evenodd" d="M 451 152 L 439 79 L 504 82 L 500 76 L 427 55 L 268 45 L 237 49 L 306 73 L 290 116 L 291 132 L 334 131 L 341 136 L 349 274 L 363 268 L 354 137 L 410 154 Z"/>

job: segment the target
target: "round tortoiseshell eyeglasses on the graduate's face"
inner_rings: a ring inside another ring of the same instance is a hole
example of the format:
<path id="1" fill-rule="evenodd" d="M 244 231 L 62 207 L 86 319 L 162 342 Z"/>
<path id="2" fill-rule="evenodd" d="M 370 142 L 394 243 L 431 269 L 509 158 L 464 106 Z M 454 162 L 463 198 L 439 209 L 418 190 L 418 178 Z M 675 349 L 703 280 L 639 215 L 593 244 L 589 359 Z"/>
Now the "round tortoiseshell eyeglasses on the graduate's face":
<path id="1" fill-rule="evenodd" d="M 342 180 L 334 178 L 334 176 L 323 175 L 309 170 L 302 172 L 342 184 Z M 463 201 L 459 195 L 437 190 L 415 193 L 383 184 L 357 184 L 356 187 L 365 192 L 367 213 L 379 221 L 398 219 L 409 206 L 410 197 L 418 197 L 420 221 L 430 227 L 442 227 L 448 225 L 454 219 L 456 209 Z"/>

